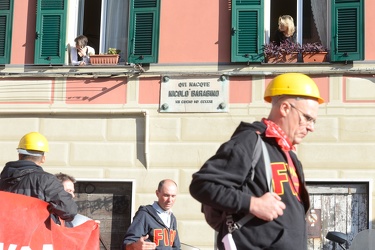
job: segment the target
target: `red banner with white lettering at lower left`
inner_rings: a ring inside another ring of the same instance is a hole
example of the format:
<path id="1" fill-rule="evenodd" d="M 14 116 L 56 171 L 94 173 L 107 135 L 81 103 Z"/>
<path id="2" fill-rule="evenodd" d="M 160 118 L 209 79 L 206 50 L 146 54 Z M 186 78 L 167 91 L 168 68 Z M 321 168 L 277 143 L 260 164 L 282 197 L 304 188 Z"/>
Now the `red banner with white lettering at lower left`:
<path id="1" fill-rule="evenodd" d="M 93 220 L 66 228 L 50 219 L 42 200 L 0 191 L 0 201 L 0 250 L 99 250 Z"/>

